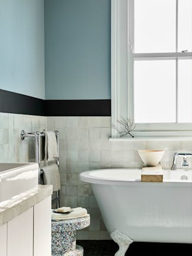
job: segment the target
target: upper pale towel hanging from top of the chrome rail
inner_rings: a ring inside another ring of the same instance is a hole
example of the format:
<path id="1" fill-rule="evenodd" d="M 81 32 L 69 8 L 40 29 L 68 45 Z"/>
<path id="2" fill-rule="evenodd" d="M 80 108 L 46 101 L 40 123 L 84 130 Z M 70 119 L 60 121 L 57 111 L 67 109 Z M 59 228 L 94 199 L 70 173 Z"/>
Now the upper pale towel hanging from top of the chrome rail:
<path id="1" fill-rule="evenodd" d="M 59 158 L 59 152 L 57 150 L 57 139 L 55 132 L 45 131 L 45 159 L 50 160 L 52 158 Z"/>

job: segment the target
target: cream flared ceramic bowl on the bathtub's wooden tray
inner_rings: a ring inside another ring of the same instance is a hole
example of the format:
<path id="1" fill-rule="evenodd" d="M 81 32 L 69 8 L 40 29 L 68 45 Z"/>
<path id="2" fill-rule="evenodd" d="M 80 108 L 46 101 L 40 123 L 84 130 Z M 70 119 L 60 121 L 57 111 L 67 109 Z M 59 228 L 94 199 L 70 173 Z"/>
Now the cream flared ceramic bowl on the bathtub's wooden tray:
<path id="1" fill-rule="evenodd" d="M 165 151 L 157 150 L 139 150 L 137 152 L 139 153 L 143 163 L 148 167 L 154 167 L 158 165 L 165 153 Z"/>

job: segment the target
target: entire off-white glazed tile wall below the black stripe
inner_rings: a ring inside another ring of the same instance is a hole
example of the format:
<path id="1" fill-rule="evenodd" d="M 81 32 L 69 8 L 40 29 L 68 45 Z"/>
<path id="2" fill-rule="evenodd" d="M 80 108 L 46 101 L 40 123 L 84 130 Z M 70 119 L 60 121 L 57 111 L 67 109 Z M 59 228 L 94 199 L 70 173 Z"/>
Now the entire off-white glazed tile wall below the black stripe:
<path id="1" fill-rule="evenodd" d="M 166 149 L 164 168 L 171 167 L 172 153 L 192 153 L 191 142 L 109 142 L 110 117 L 41 117 L 0 113 L 0 162 L 33 162 L 34 140 L 20 139 L 21 130 L 60 131 L 62 205 L 86 207 L 91 225 L 78 232 L 78 239 L 110 239 L 91 185 L 79 180 L 89 169 L 142 167 L 138 149 Z M 178 167 L 182 159 L 178 159 Z M 191 159 L 189 159 L 191 166 Z"/>

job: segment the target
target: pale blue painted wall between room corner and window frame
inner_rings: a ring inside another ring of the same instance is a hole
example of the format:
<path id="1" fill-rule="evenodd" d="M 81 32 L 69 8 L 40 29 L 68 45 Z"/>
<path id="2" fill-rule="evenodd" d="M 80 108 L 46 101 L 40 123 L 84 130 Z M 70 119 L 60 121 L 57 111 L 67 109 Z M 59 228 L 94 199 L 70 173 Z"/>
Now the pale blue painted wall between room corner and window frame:
<path id="1" fill-rule="evenodd" d="M 45 0 L 46 99 L 110 99 L 110 0 Z"/>

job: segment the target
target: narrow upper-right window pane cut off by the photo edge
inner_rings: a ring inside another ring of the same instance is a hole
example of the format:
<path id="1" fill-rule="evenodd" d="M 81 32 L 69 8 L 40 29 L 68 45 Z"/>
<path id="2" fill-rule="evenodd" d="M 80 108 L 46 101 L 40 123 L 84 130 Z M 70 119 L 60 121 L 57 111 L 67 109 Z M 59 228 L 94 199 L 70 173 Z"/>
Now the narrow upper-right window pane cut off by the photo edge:
<path id="1" fill-rule="evenodd" d="M 178 52 L 192 52 L 192 0 L 178 1 Z"/>

